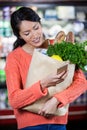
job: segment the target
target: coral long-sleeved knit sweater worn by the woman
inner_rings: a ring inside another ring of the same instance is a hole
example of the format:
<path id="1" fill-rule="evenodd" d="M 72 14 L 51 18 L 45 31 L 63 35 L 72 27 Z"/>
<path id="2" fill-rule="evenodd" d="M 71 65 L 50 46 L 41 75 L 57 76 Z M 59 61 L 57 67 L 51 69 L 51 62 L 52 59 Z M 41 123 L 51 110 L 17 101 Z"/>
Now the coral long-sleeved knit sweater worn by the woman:
<path id="1" fill-rule="evenodd" d="M 41 115 L 21 110 L 22 107 L 35 102 L 47 94 L 47 89 L 41 91 L 38 81 L 32 87 L 24 89 L 28 68 L 32 56 L 21 47 L 10 52 L 6 59 L 6 82 L 8 98 L 17 120 L 18 129 L 40 124 L 66 124 L 68 113 L 64 116 L 54 116 L 47 119 Z M 38 73 L 37 73 L 38 74 Z M 87 81 L 81 70 L 75 72 L 73 83 L 63 92 L 54 95 L 60 102 L 60 107 L 72 102 L 87 90 Z"/>

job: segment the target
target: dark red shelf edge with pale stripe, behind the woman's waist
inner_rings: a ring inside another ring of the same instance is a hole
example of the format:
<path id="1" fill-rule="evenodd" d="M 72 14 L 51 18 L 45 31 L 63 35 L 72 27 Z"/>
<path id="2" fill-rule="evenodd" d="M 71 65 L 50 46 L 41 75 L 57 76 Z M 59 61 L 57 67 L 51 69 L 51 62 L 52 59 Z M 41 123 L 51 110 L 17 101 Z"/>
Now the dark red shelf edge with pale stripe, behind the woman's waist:
<path id="1" fill-rule="evenodd" d="M 69 121 L 87 120 L 87 105 L 71 106 L 69 109 Z M 0 126 L 17 124 L 12 109 L 0 110 Z"/>

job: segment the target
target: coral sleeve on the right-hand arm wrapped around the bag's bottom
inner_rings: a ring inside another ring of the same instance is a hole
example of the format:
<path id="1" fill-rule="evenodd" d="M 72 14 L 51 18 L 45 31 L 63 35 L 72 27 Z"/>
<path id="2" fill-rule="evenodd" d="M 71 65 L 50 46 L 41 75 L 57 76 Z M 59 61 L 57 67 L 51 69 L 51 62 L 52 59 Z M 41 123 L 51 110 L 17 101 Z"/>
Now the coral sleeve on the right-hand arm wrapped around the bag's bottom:
<path id="1" fill-rule="evenodd" d="M 54 97 L 60 102 L 60 107 L 71 103 L 87 90 L 87 80 L 82 70 L 77 70 L 74 74 L 73 83 L 64 91 L 57 93 Z"/>

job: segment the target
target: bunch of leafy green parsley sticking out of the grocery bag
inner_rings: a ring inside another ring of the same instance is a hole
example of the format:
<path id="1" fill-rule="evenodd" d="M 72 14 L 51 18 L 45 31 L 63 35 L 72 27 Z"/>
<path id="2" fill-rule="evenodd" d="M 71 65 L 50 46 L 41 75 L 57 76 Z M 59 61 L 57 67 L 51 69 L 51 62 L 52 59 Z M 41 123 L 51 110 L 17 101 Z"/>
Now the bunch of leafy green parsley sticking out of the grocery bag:
<path id="1" fill-rule="evenodd" d="M 47 49 L 47 55 L 59 55 L 63 61 L 69 60 L 71 63 L 76 65 L 76 69 L 80 68 L 84 72 L 87 71 L 85 66 L 87 66 L 87 51 L 85 47 L 87 46 L 87 41 L 83 43 L 70 43 L 62 41 L 60 44 L 55 43 L 49 45 Z"/>

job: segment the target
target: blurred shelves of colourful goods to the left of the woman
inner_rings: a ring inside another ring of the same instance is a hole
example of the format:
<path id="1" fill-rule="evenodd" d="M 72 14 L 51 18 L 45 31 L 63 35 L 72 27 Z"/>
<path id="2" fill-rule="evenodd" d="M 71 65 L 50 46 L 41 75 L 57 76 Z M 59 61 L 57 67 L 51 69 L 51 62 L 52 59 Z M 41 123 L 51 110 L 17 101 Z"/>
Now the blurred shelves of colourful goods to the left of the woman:
<path id="1" fill-rule="evenodd" d="M 10 15 L 13 9 L 0 7 L 0 109 L 10 107 L 7 98 L 5 64 L 6 56 L 12 50 L 15 41 L 10 27 Z"/>

